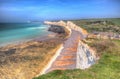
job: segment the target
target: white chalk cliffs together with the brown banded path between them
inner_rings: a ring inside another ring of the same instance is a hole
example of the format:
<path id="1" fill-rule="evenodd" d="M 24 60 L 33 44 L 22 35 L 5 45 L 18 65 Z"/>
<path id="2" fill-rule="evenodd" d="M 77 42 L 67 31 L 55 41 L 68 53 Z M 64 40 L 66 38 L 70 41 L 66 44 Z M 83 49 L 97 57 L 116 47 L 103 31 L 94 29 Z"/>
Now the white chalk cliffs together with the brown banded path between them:
<path id="1" fill-rule="evenodd" d="M 95 63 L 95 51 L 82 42 L 82 40 L 88 35 L 86 30 L 71 21 L 45 21 L 44 23 L 52 27 L 64 27 L 69 31 L 69 37 L 64 41 L 63 49 L 59 52 L 59 56 L 55 58 L 51 63 L 51 66 L 49 66 L 44 73 L 48 73 L 53 70 L 86 69 Z"/>

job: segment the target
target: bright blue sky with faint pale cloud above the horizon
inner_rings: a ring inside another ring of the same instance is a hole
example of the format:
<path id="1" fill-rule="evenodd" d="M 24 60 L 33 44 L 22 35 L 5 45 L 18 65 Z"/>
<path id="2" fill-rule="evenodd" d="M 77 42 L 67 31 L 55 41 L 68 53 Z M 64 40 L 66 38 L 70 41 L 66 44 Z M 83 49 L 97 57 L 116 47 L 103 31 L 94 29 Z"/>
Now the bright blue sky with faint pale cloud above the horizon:
<path id="1" fill-rule="evenodd" d="M 0 22 L 120 17 L 120 0 L 0 0 Z"/>

